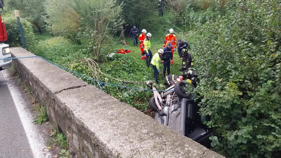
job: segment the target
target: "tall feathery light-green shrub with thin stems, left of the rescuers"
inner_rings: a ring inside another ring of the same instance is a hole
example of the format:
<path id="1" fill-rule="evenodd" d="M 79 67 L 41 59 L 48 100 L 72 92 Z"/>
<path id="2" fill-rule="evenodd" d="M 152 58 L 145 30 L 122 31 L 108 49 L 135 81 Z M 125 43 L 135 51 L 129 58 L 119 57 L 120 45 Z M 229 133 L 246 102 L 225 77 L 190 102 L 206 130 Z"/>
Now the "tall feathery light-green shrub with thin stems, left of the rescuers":
<path id="1" fill-rule="evenodd" d="M 55 34 L 64 37 L 80 32 L 92 56 L 101 62 L 106 43 L 123 24 L 121 4 L 117 0 L 47 0 L 47 22 Z M 77 36 L 76 36 L 77 37 Z"/>

